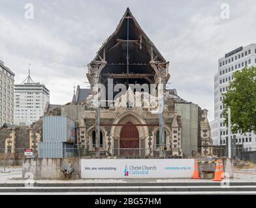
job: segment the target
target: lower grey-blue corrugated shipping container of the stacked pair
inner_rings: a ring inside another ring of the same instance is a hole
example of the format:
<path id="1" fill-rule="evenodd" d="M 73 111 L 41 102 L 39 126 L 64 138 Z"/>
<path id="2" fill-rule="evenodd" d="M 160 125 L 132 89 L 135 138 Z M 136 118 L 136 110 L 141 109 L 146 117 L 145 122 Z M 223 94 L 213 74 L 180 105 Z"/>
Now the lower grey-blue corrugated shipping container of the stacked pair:
<path id="1" fill-rule="evenodd" d="M 39 158 L 64 158 L 73 156 L 73 145 L 63 142 L 40 142 Z"/>

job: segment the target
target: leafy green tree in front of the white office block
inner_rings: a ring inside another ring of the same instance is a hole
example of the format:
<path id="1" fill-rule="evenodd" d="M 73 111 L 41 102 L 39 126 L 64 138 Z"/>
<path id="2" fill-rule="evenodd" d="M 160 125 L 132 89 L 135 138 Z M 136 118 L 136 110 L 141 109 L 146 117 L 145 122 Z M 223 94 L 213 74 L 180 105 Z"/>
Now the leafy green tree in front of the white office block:
<path id="1" fill-rule="evenodd" d="M 231 108 L 232 133 L 256 132 L 256 68 L 234 72 L 229 89 L 223 93 L 223 115 L 227 124 L 227 109 Z"/>

